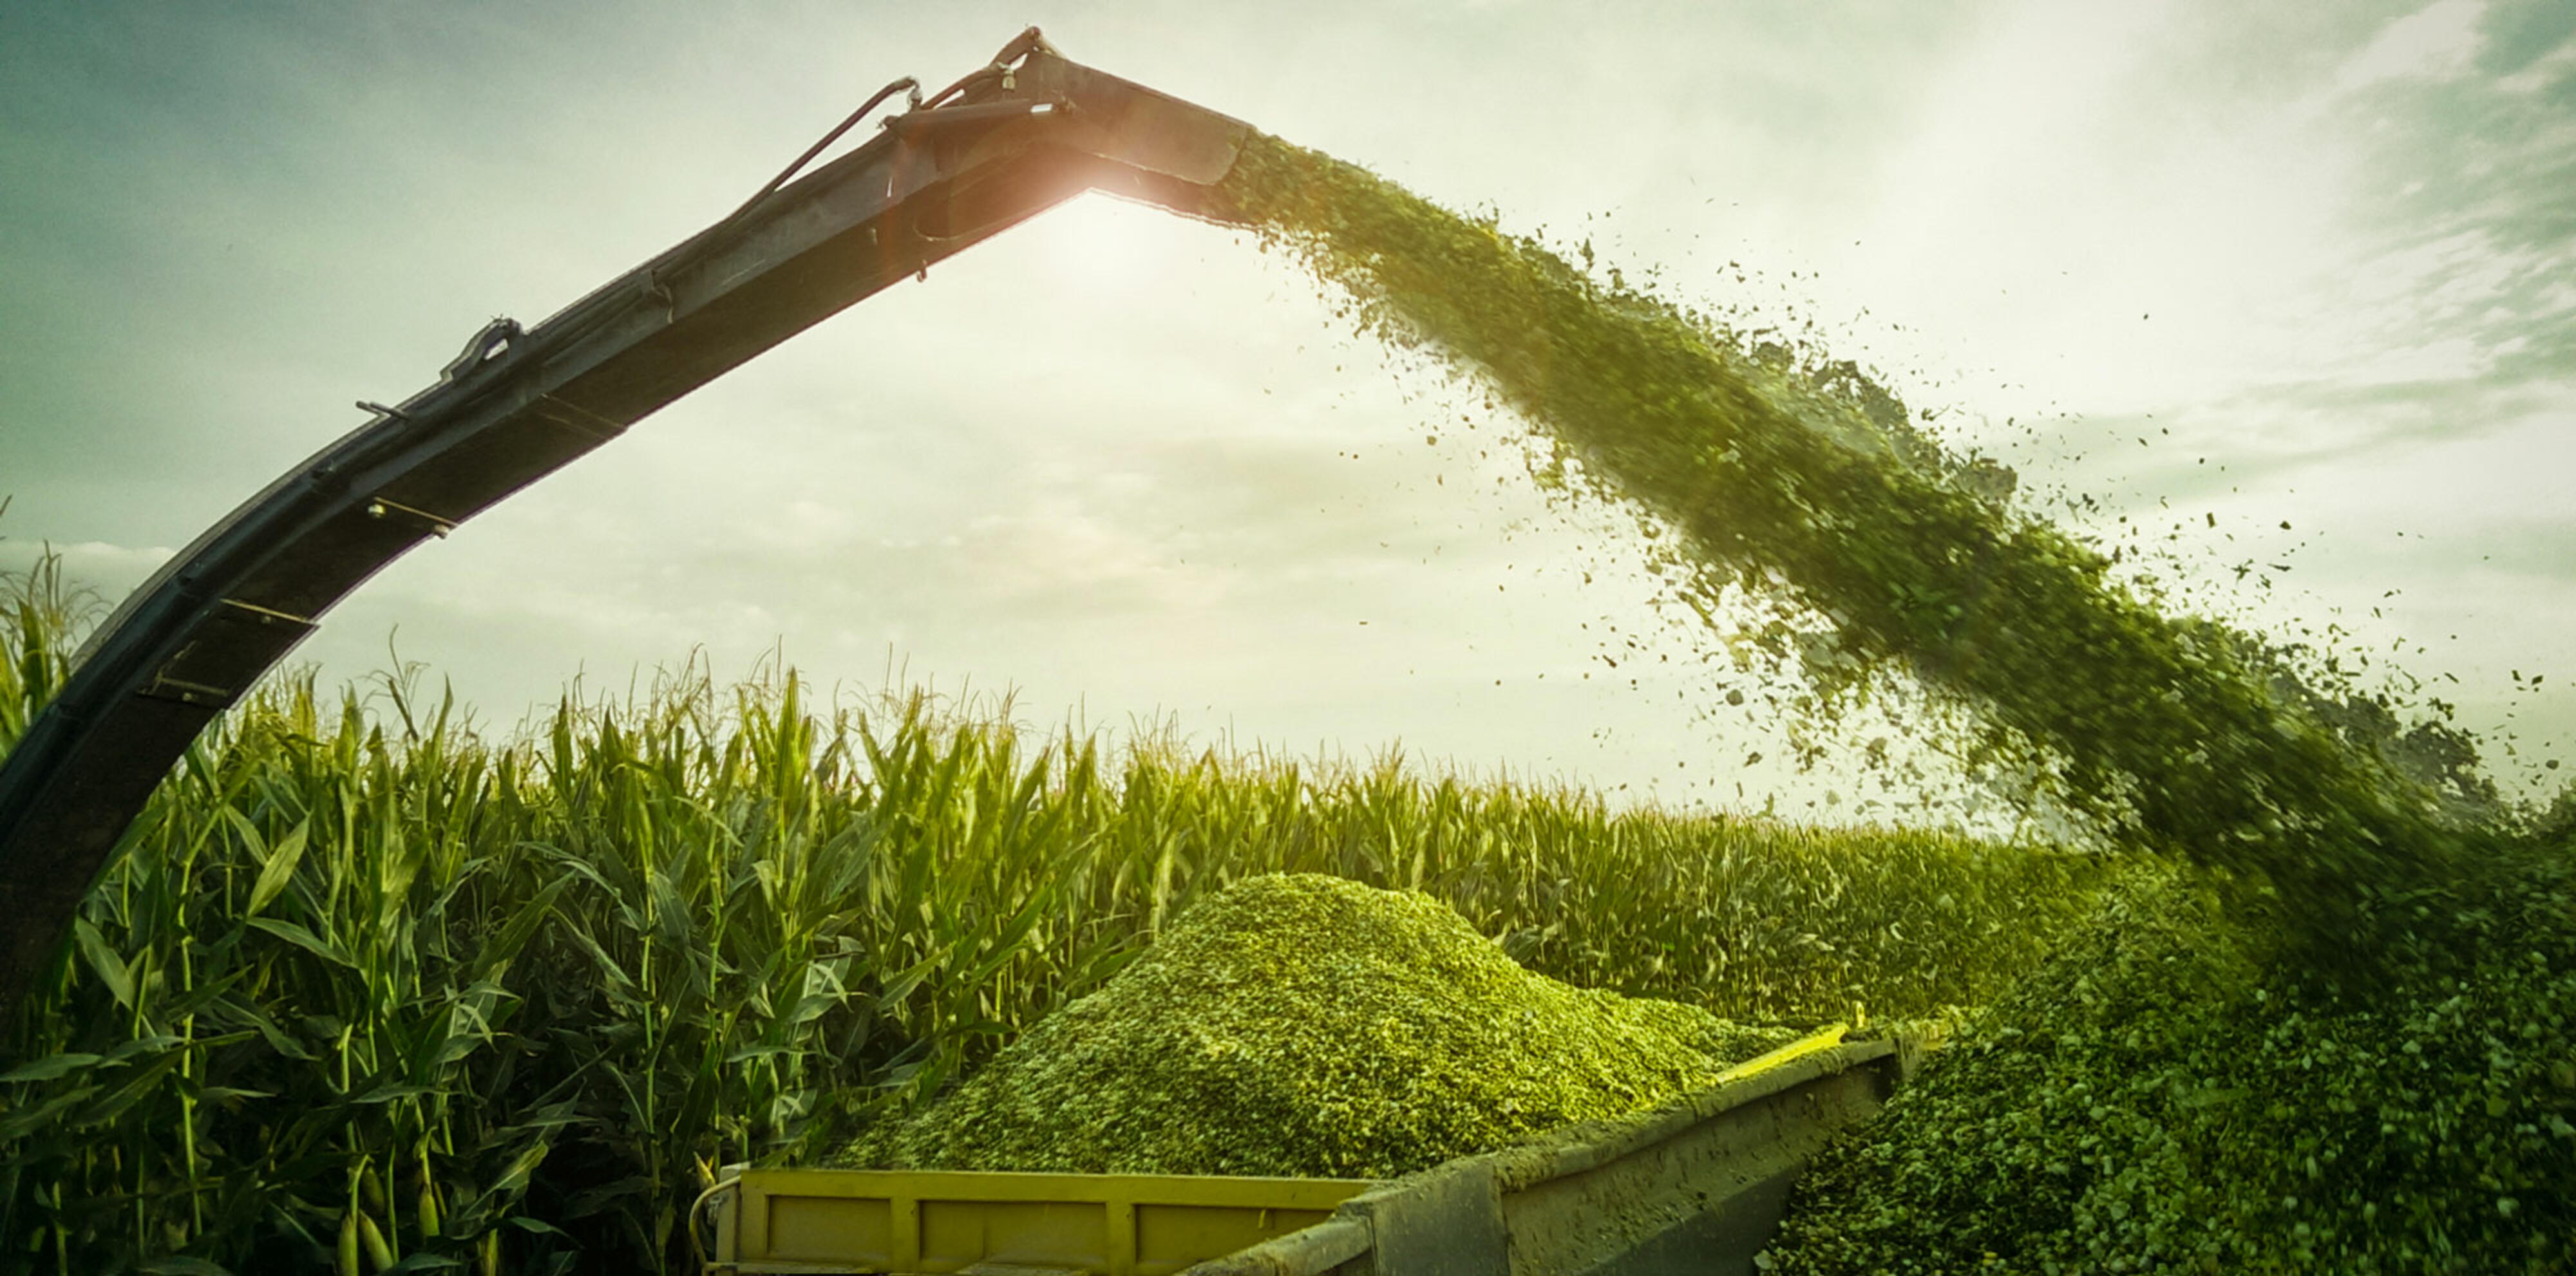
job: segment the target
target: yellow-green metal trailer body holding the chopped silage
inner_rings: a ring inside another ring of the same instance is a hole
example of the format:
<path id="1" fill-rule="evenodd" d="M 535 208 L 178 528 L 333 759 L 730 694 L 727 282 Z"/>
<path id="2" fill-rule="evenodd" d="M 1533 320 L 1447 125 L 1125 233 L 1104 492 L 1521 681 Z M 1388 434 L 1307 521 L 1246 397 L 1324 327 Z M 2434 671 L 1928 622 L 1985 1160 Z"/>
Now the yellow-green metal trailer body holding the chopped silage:
<path id="1" fill-rule="evenodd" d="M 1386 1181 L 744 1171 L 711 1276 L 1749 1273 L 1788 1189 L 1914 1068 L 1842 1026 L 1659 1109 Z"/>

